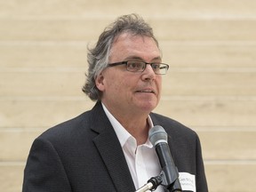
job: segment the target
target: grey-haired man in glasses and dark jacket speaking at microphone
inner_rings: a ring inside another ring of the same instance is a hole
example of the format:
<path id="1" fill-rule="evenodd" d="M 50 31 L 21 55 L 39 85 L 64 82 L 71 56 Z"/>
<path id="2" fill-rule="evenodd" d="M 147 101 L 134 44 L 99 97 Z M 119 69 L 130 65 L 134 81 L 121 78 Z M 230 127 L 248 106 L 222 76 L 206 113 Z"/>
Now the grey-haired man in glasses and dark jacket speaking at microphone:
<path id="1" fill-rule="evenodd" d="M 155 125 L 170 137 L 182 189 L 208 191 L 196 132 L 152 113 L 169 68 L 152 28 L 135 14 L 118 18 L 89 50 L 88 62 L 83 91 L 96 105 L 34 141 L 23 192 L 135 191 L 161 172 L 148 140 Z"/>

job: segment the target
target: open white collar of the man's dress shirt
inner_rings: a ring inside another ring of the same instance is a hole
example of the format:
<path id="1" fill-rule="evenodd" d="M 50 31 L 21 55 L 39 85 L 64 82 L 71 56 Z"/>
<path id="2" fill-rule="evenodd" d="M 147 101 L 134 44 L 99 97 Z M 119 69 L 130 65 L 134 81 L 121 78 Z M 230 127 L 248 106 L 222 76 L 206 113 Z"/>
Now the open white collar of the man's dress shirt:
<path id="1" fill-rule="evenodd" d="M 129 140 L 129 138 L 132 138 L 133 140 L 135 140 L 135 138 L 129 132 L 126 131 L 124 126 L 116 120 L 115 116 L 113 116 L 108 111 L 108 108 L 106 108 L 106 106 L 102 102 L 101 102 L 101 104 L 102 104 L 102 107 L 103 107 L 106 115 L 108 116 L 110 123 L 112 124 L 112 126 L 116 132 L 116 136 L 117 136 L 122 148 L 124 148 L 124 144 L 127 142 L 127 140 Z M 148 115 L 147 120 L 148 120 L 148 124 L 149 124 L 149 129 L 151 129 L 154 126 L 154 124 L 149 115 Z M 149 140 L 147 140 L 146 143 L 143 145 L 148 148 L 153 148 L 153 145 L 151 144 L 151 142 Z"/>

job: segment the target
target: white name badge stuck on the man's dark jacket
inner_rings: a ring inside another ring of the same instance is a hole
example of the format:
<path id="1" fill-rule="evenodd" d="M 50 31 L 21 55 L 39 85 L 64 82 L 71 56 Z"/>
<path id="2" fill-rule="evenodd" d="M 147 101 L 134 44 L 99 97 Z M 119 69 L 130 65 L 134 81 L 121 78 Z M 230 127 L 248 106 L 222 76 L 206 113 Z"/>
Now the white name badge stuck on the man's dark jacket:
<path id="1" fill-rule="evenodd" d="M 182 190 L 196 192 L 196 177 L 188 172 L 179 172 L 179 180 Z"/>

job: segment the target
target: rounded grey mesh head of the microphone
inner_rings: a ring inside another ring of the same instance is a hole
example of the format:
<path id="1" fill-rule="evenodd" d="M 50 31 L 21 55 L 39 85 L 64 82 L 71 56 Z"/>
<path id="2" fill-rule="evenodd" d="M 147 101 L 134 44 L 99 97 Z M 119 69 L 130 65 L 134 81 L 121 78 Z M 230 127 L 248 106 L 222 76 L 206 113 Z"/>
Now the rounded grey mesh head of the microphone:
<path id="1" fill-rule="evenodd" d="M 160 125 L 152 127 L 148 132 L 148 137 L 154 147 L 156 147 L 156 144 L 158 144 L 159 142 L 167 143 L 167 133 Z"/>

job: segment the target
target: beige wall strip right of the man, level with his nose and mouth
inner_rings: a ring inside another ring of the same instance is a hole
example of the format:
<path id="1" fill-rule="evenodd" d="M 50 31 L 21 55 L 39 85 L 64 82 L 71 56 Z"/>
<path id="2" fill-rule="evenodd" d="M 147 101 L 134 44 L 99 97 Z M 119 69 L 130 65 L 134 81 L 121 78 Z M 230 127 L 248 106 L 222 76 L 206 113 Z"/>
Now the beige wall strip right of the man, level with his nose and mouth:
<path id="1" fill-rule="evenodd" d="M 253 69 L 253 68 L 252 68 Z M 251 69 L 251 70 L 252 70 Z M 256 69 L 256 68 L 255 68 Z M 179 71 L 180 70 L 180 71 Z M 215 95 L 215 96 L 248 96 L 256 95 L 256 71 L 246 69 L 211 71 L 200 69 L 172 69 L 163 78 L 165 95 Z"/>

